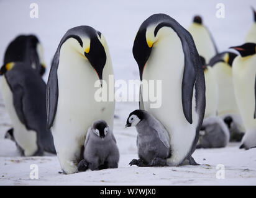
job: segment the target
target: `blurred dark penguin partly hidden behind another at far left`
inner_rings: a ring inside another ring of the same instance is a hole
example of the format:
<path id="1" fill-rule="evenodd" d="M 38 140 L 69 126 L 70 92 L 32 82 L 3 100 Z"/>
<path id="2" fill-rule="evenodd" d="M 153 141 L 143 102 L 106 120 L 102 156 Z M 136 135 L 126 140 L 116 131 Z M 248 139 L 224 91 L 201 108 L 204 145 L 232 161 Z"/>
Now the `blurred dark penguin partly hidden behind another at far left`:
<path id="1" fill-rule="evenodd" d="M 45 73 L 43 48 L 35 35 L 19 35 L 7 46 L 4 54 L 4 64 L 9 62 L 24 62 L 40 75 Z"/>

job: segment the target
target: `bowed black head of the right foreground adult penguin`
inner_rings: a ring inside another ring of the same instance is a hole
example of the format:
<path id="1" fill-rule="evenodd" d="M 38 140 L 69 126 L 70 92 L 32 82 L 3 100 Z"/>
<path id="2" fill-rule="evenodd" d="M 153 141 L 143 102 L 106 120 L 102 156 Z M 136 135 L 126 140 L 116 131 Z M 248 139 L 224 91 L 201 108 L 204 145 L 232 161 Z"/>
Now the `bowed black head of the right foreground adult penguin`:
<path id="1" fill-rule="evenodd" d="M 170 19 L 170 16 L 166 14 L 153 14 L 140 25 L 132 48 L 134 59 L 139 66 L 140 80 L 142 80 L 144 67 L 149 59 L 154 43 L 163 36 L 163 32 L 158 33 L 158 30 L 167 26 L 167 22 Z"/>

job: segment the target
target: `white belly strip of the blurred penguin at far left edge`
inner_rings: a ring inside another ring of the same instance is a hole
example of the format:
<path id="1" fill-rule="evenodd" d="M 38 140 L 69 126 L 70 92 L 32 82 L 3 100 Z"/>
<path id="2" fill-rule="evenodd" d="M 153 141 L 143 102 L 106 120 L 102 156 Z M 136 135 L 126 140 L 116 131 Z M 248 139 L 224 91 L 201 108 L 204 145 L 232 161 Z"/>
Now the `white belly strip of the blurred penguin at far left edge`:
<path id="1" fill-rule="evenodd" d="M 6 111 L 9 114 L 14 127 L 14 139 L 24 150 L 25 156 L 33 155 L 37 152 L 37 133 L 32 130 L 27 130 L 24 124 L 19 120 L 14 108 L 12 92 L 7 84 L 5 76 L 3 76 L 1 80 L 1 92 Z"/>

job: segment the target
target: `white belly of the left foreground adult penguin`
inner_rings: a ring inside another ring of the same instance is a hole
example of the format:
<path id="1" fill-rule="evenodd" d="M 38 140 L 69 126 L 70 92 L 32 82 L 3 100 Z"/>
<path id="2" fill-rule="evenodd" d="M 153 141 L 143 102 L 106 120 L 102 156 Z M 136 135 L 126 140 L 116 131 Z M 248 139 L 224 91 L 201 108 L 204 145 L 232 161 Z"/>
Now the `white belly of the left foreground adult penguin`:
<path id="1" fill-rule="evenodd" d="M 112 130 L 114 101 L 94 99 L 99 87 L 94 87 L 98 75 L 93 67 L 80 54 L 66 50 L 65 45 L 62 48 L 58 66 L 58 106 L 52 134 L 62 168 L 66 173 L 74 173 L 89 126 L 96 119 L 104 119 Z M 106 64 L 103 79 L 107 85 L 111 72 L 111 65 Z M 103 92 L 106 88 L 103 86 Z"/>

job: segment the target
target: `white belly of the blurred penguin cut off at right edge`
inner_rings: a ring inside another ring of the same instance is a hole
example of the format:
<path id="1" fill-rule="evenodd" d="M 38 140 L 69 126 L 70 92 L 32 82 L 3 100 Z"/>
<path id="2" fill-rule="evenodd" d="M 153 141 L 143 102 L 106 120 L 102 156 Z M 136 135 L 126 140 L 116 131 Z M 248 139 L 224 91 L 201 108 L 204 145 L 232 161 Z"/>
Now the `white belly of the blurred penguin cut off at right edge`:
<path id="1" fill-rule="evenodd" d="M 237 57 L 234 60 L 232 69 L 235 98 L 246 131 L 256 128 L 256 119 L 254 119 L 255 62 L 256 55 L 245 58 Z"/>

